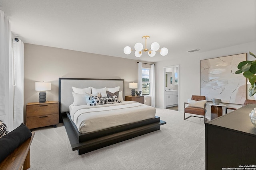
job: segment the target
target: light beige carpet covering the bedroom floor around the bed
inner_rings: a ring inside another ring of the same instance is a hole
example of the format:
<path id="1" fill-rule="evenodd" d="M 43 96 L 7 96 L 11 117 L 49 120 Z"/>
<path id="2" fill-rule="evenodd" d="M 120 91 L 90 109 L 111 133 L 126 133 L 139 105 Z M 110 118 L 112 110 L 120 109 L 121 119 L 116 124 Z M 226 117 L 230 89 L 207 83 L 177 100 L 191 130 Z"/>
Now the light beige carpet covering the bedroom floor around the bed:
<path id="1" fill-rule="evenodd" d="M 72 151 L 62 123 L 34 129 L 30 170 L 204 170 L 204 120 L 157 109 L 161 130 L 86 154 Z"/>

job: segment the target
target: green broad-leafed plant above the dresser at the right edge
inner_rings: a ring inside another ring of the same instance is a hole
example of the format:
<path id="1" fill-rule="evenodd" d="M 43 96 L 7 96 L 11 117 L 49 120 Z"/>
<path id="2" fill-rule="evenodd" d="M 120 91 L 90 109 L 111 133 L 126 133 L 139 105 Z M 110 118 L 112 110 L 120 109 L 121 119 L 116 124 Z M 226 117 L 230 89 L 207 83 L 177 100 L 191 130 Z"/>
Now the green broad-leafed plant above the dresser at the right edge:
<path id="1" fill-rule="evenodd" d="M 252 52 L 249 54 L 256 58 Z M 242 72 L 244 77 L 248 78 L 250 84 L 252 85 L 249 88 L 249 95 L 253 96 L 256 94 L 256 60 L 253 61 L 242 61 L 237 66 L 238 70 L 235 72 L 236 74 L 240 74 Z"/>

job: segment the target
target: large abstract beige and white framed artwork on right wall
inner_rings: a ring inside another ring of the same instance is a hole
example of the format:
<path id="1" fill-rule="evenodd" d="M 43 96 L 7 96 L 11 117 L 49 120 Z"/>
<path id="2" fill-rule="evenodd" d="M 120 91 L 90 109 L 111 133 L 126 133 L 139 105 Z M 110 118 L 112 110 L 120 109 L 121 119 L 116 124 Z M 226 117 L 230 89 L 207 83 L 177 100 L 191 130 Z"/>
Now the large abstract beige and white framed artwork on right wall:
<path id="1" fill-rule="evenodd" d="M 207 101 L 218 98 L 222 103 L 243 104 L 246 78 L 235 74 L 241 61 L 246 61 L 246 53 L 201 60 L 201 96 Z"/>

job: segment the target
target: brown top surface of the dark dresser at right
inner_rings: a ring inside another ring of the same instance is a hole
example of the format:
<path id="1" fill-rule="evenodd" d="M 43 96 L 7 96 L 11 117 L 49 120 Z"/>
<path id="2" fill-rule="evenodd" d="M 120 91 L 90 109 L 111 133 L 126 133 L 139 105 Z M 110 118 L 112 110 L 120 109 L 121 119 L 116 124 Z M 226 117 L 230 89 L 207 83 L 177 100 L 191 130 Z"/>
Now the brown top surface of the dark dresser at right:
<path id="1" fill-rule="evenodd" d="M 256 135 L 256 128 L 252 125 L 249 113 L 256 107 L 256 104 L 248 104 L 232 111 L 226 115 L 222 115 L 206 122 L 206 125 L 215 125 L 221 128 L 227 128 L 234 131 L 240 131 L 249 135 Z"/>

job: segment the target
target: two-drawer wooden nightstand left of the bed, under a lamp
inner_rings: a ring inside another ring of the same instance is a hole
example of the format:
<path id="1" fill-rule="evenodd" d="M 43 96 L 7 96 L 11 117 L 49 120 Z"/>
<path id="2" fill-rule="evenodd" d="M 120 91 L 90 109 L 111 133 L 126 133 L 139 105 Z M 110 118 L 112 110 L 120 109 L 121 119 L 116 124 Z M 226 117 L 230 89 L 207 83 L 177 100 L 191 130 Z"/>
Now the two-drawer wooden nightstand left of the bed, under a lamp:
<path id="1" fill-rule="evenodd" d="M 56 125 L 59 123 L 59 102 L 28 103 L 26 105 L 26 126 L 29 129 Z"/>

